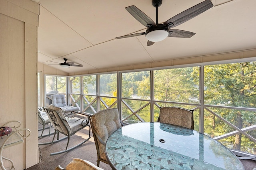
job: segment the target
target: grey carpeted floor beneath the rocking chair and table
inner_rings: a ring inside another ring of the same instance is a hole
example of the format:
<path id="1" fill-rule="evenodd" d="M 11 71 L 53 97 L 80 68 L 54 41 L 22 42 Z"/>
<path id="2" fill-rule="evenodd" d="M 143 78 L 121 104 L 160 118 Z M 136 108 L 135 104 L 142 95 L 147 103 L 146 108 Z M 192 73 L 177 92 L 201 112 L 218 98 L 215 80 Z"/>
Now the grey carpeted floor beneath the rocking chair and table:
<path id="1" fill-rule="evenodd" d="M 51 131 L 54 132 L 54 129 L 52 128 Z M 46 130 L 45 133 L 47 132 L 48 130 Z M 86 127 L 85 129 L 82 129 L 81 131 L 70 137 L 69 147 L 73 147 L 76 144 L 80 143 L 82 140 L 88 138 L 88 134 L 89 128 Z M 40 162 L 26 170 L 54 170 L 58 165 L 64 168 L 67 166 L 69 162 L 72 161 L 73 158 L 81 158 L 84 160 L 88 160 L 96 165 L 97 152 L 92 132 L 90 134 L 91 139 L 89 139 L 89 141 L 87 141 L 80 147 L 58 155 L 50 156 L 50 153 L 65 150 L 66 143 L 68 141 L 67 139 L 59 141 L 58 143 L 55 144 L 39 146 L 39 158 L 41 158 Z M 52 141 L 52 137 L 53 135 L 51 137 L 40 138 L 39 143 L 50 142 Z M 60 135 L 60 138 L 61 137 L 64 137 L 64 135 Z M 254 160 L 241 160 L 241 162 L 244 165 L 245 170 L 252 170 L 253 168 L 256 167 L 256 161 Z M 100 162 L 100 168 L 103 168 L 104 170 L 111 170 L 110 166 L 103 162 Z"/>

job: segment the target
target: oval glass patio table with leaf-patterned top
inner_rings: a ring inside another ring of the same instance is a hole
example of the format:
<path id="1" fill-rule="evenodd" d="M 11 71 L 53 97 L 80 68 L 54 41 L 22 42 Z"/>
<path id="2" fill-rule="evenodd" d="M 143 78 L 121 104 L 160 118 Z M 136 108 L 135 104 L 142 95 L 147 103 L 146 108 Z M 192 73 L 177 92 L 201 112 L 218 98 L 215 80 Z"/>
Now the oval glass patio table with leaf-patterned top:
<path id="1" fill-rule="evenodd" d="M 106 142 L 110 166 L 118 170 L 244 170 L 218 141 L 166 123 L 134 123 L 114 131 Z"/>

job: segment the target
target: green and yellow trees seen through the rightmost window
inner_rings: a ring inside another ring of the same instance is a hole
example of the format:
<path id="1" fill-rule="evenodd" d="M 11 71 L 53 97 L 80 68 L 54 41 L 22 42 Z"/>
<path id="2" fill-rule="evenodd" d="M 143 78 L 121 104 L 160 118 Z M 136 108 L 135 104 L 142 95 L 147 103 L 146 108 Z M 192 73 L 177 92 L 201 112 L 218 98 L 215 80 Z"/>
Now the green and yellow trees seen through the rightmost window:
<path id="1" fill-rule="evenodd" d="M 246 62 L 205 66 L 204 86 L 205 104 L 255 108 L 256 63 Z M 248 111 L 228 109 L 213 109 L 213 111 L 240 129 L 245 125 L 250 126 L 256 123 L 255 113 Z M 220 131 L 225 134 L 234 130 L 213 115 L 206 117 L 206 119 L 208 119 L 206 122 L 211 122 L 205 124 L 206 131 L 212 136 L 219 135 Z M 213 131 L 210 132 L 207 129 L 213 129 Z M 253 132 L 250 133 L 253 134 Z M 242 138 L 242 134 L 237 134 L 233 137 L 233 149 L 242 149 Z M 230 143 L 229 139 L 226 139 L 226 142 Z M 246 146 L 243 147 L 246 148 Z"/>

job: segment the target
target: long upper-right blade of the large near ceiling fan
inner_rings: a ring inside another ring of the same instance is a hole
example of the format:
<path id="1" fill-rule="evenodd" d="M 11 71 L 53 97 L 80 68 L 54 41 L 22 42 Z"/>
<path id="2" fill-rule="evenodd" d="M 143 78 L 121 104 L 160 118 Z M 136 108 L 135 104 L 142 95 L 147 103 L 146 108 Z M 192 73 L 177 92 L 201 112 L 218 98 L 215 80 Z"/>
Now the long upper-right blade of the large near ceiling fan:
<path id="1" fill-rule="evenodd" d="M 166 22 L 164 22 L 164 25 L 168 26 L 169 28 L 176 27 L 196 16 L 199 14 L 202 14 L 206 10 L 213 7 L 213 4 L 211 0 L 205 0 L 191 8 L 188 8 L 187 10 L 181 12 L 180 14 L 170 18 Z"/>

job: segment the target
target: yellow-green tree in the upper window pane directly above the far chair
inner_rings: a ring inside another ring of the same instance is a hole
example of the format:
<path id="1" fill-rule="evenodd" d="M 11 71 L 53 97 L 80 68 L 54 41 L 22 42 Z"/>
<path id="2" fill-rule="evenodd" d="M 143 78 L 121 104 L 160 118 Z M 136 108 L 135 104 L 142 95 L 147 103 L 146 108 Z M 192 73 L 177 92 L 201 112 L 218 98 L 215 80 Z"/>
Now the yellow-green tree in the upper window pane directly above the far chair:
<path id="1" fill-rule="evenodd" d="M 155 100 L 198 103 L 199 86 L 196 86 L 191 74 L 193 68 L 175 68 L 155 70 Z M 199 84 L 199 78 L 196 78 Z M 164 105 L 166 106 L 166 105 Z"/>

